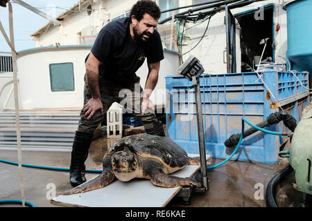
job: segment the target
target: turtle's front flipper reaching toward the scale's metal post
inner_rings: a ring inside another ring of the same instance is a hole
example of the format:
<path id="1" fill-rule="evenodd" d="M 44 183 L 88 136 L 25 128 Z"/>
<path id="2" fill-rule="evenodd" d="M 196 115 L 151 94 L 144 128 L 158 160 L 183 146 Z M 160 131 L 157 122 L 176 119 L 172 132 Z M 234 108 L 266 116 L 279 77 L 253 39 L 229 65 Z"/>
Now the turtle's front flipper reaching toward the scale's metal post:
<path id="1" fill-rule="evenodd" d="M 200 186 L 200 183 L 190 178 L 175 177 L 168 175 L 162 171 L 153 173 L 150 177 L 150 182 L 155 186 L 175 187 L 175 186 Z"/>

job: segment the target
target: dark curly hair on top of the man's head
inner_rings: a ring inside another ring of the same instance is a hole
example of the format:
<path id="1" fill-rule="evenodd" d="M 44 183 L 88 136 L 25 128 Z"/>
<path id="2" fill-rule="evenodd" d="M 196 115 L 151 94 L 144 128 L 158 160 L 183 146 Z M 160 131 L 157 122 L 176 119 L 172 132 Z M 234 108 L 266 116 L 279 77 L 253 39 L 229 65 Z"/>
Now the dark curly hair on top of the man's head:
<path id="1" fill-rule="evenodd" d="M 134 15 L 137 21 L 141 21 L 141 19 L 143 19 L 143 15 L 146 13 L 148 13 L 148 15 L 153 17 L 155 20 L 158 20 L 161 15 L 160 9 L 154 1 L 140 0 L 137 1 L 134 6 L 132 6 L 130 11 L 130 19 L 132 15 Z"/>

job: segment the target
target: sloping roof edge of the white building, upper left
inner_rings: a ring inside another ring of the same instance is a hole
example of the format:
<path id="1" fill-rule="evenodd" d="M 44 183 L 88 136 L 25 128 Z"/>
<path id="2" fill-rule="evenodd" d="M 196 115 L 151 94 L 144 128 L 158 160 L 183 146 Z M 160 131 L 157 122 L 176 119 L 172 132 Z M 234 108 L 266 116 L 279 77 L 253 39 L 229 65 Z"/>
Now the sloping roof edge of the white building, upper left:
<path id="1" fill-rule="evenodd" d="M 93 0 L 80 0 L 80 9 L 87 7 L 89 4 L 94 3 Z M 76 3 L 75 5 L 73 5 L 71 8 L 69 8 L 69 10 L 66 10 L 64 12 L 62 12 L 60 15 L 58 15 L 58 17 L 56 17 L 55 19 L 58 21 L 62 21 L 63 19 L 65 19 L 66 17 L 68 17 L 69 15 L 71 15 L 72 13 L 75 13 L 73 11 L 78 11 L 79 10 L 79 2 Z M 35 31 L 31 37 L 40 37 L 40 35 L 42 35 L 46 29 L 48 28 L 48 26 L 53 25 L 52 22 L 48 22 L 46 23 L 45 26 L 43 26 L 42 28 L 40 28 L 39 30 Z"/>

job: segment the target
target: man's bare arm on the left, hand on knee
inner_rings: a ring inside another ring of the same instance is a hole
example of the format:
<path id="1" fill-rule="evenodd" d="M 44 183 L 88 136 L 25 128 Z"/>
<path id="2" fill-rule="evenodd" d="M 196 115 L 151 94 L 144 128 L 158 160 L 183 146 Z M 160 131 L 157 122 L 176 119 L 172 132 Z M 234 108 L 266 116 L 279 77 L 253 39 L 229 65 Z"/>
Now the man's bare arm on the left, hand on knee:
<path id="1" fill-rule="evenodd" d="M 103 104 L 101 102 L 100 87 L 98 84 L 98 66 L 100 65 L 101 61 L 98 61 L 92 52 L 90 52 L 85 63 L 87 84 L 92 95 L 92 98 L 89 99 L 84 107 L 85 117 L 87 117 L 87 119 L 91 119 L 94 113 L 96 113 L 99 109 L 101 109 L 102 114 L 104 113 Z"/>

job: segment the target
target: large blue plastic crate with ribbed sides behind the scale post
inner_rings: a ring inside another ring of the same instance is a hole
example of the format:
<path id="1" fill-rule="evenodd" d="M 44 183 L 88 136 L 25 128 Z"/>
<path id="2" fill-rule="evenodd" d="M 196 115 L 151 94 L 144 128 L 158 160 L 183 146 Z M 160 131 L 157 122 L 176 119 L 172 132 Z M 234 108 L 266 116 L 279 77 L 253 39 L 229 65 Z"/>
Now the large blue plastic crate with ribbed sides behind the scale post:
<path id="1" fill-rule="evenodd" d="M 308 87 L 308 73 L 295 75 Z M 227 158 L 224 142 L 230 135 L 241 133 L 242 117 L 258 124 L 280 106 L 299 121 L 302 109 L 309 104 L 309 90 L 297 78 L 293 73 L 269 70 L 262 76 L 265 86 L 257 73 L 202 75 L 200 92 L 206 153 Z M 170 93 L 166 108 L 167 136 L 187 153 L 199 154 L 195 93 L 189 88 L 192 84 L 184 77 L 166 77 L 166 89 Z M 245 124 L 245 130 L 248 128 Z M 267 129 L 286 131 L 282 124 Z M 243 140 L 232 160 L 276 164 L 280 141 L 278 136 L 254 133 Z"/>

